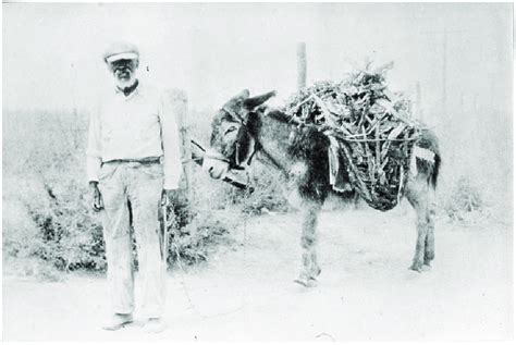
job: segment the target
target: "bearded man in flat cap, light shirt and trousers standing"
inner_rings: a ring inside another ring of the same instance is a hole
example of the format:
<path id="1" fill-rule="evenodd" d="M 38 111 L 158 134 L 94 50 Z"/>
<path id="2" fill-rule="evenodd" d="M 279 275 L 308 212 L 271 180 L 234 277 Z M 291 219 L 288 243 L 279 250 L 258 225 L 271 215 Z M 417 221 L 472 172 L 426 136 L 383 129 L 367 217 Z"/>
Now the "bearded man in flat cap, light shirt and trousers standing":
<path id="1" fill-rule="evenodd" d="M 87 173 L 94 210 L 103 215 L 108 287 L 112 303 L 106 330 L 133 321 L 134 275 L 130 210 L 137 244 L 145 331 L 163 330 L 164 270 L 158 208 L 177 198 L 181 153 L 175 115 L 186 111 L 181 91 L 160 95 L 137 78 L 138 49 L 112 45 L 103 60 L 114 87 L 90 118 Z"/>

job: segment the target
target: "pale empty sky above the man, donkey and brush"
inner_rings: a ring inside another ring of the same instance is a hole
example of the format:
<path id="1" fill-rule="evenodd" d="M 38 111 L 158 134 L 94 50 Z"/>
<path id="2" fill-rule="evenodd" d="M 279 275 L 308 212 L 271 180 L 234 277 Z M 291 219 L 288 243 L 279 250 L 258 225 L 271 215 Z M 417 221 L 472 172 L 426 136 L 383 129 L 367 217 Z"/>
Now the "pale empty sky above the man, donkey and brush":
<path id="1" fill-rule="evenodd" d="M 309 83 L 340 79 L 348 61 L 394 60 L 393 85 L 409 88 L 419 81 L 428 108 L 441 101 L 443 30 L 459 30 L 447 35 L 449 87 L 456 81 L 469 88 L 474 84 L 470 95 L 492 87 L 494 75 L 505 72 L 511 49 L 509 3 L 2 8 L 4 109 L 87 108 L 109 85 L 101 53 L 118 39 L 140 47 L 142 65 L 149 66 L 144 79 L 186 89 L 197 109 L 218 107 L 243 88 L 277 89 L 280 100 L 286 98 L 296 87 L 300 40 L 307 42 Z"/>

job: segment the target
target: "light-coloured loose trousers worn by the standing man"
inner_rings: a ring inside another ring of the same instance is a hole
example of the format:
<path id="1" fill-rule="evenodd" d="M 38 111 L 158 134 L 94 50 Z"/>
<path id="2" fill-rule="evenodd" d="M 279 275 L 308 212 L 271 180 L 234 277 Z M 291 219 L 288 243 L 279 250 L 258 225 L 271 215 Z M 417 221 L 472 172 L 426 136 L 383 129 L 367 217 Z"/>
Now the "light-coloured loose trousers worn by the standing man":
<path id="1" fill-rule="evenodd" d="M 132 313 L 135 309 L 128 201 L 138 257 L 142 315 L 160 318 L 163 313 L 164 270 L 158 219 L 162 188 L 163 170 L 159 163 L 114 161 L 103 163 L 100 170 L 108 293 L 113 313 Z"/>

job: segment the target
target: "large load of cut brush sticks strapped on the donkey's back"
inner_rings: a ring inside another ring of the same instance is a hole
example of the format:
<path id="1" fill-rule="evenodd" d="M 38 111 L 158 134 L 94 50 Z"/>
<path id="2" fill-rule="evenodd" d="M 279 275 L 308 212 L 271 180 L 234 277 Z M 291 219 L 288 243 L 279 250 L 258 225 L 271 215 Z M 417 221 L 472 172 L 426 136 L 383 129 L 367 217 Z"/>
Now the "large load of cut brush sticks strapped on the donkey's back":
<path id="1" fill-rule="evenodd" d="M 293 95 L 284 109 L 292 122 L 329 136 L 353 189 L 383 211 L 403 195 L 411 149 L 422 130 L 410 116 L 410 101 L 389 90 L 385 73 L 391 67 L 371 71 L 368 64 L 342 82 L 316 83 Z"/>

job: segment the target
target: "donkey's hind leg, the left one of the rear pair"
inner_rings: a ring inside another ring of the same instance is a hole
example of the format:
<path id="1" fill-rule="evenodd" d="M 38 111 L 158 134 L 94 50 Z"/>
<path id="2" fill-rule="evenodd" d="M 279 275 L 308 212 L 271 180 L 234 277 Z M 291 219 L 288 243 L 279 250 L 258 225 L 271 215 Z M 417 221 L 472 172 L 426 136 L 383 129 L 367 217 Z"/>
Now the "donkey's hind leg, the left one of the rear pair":
<path id="1" fill-rule="evenodd" d="M 408 182 L 406 189 L 406 197 L 416 210 L 417 217 L 416 252 L 414 254 L 410 269 L 418 272 L 422 271 L 427 243 L 429 244 L 429 248 L 433 248 L 433 232 L 431 237 L 427 237 L 429 233 L 429 189 L 426 178 L 422 178 L 422 176 L 419 175 L 415 180 Z"/>

